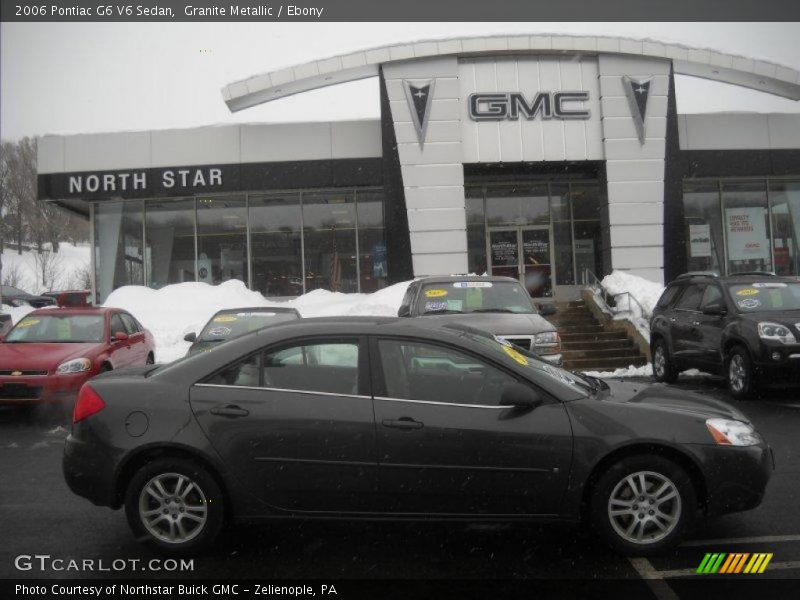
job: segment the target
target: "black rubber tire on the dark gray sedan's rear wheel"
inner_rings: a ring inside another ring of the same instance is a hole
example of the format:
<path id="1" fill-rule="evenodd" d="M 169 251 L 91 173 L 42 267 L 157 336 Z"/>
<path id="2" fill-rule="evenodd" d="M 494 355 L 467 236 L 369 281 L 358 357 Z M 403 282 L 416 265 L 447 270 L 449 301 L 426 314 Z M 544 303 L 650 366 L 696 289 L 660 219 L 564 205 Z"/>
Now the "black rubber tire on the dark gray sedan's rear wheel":
<path id="1" fill-rule="evenodd" d="M 175 488 L 169 485 L 174 481 L 177 486 L 179 477 L 184 478 L 180 488 L 184 497 L 175 494 Z M 166 502 L 145 491 L 149 485 L 156 485 L 155 481 L 167 492 L 162 496 Z M 194 486 L 191 489 L 190 483 Z M 205 510 L 200 511 L 199 506 Z M 149 526 L 143 511 L 154 511 Z M 139 542 L 165 554 L 186 555 L 207 548 L 219 535 L 225 521 L 225 505 L 219 484 L 205 468 L 185 458 L 166 457 L 147 463 L 131 478 L 125 491 L 125 515 Z M 198 523 L 200 518 L 204 518 L 202 523 Z M 187 534 L 182 540 L 176 539 L 181 537 L 178 522 Z M 172 533 L 175 538 L 167 539 Z"/>

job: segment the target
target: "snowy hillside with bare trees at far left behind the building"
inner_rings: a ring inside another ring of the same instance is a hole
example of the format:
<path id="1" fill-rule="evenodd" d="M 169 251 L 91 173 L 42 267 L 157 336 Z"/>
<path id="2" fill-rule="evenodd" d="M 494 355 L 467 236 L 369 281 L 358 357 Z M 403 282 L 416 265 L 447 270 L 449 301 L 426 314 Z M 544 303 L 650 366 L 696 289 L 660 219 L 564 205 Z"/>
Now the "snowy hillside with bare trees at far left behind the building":
<path id="1" fill-rule="evenodd" d="M 49 249 L 50 244 L 45 244 Z M 50 261 L 52 267 L 48 269 L 50 285 L 42 283 L 40 266 L 37 264 L 35 250 L 23 250 L 18 254 L 16 249 L 5 247 L 3 249 L 2 280 L 9 285 L 25 290 L 29 294 L 40 294 L 52 290 L 75 289 L 80 286 L 81 271 L 89 268 L 91 249 L 88 244 L 75 246 L 61 243 L 58 252 L 52 253 Z M 9 278 L 15 275 L 17 281 L 10 282 Z"/>

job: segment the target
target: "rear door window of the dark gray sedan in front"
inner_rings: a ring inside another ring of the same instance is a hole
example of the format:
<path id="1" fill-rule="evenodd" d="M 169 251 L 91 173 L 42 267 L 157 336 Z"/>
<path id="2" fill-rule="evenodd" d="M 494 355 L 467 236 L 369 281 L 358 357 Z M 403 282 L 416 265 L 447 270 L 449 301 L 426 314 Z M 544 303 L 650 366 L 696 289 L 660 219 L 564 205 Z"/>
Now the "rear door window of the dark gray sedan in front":
<path id="1" fill-rule="evenodd" d="M 358 394 L 358 340 L 283 347 L 264 354 L 263 384 L 285 390 Z"/>

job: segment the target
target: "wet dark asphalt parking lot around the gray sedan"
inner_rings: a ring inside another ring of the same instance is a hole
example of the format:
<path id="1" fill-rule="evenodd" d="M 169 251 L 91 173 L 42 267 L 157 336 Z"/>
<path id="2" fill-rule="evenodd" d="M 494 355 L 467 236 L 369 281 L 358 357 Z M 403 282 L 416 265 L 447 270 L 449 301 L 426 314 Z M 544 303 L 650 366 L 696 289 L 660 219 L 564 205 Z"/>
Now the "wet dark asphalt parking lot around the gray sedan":
<path id="1" fill-rule="evenodd" d="M 731 401 L 722 382 L 712 378 L 682 378 L 676 385 Z M 691 539 L 666 556 L 623 559 L 590 535 L 561 525 L 282 522 L 237 528 L 211 554 L 197 557 L 193 572 L 175 575 L 646 579 L 658 597 L 672 598 L 676 582 L 698 577 L 694 571 L 707 552 L 767 552 L 773 557 L 759 577 L 800 577 L 800 394 L 737 405 L 775 450 L 778 469 L 766 499 L 754 511 L 698 523 Z M 86 576 L 21 573 L 14 567 L 19 554 L 109 562 L 155 556 L 133 540 L 121 512 L 94 507 L 67 489 L 60 465 L 66 434 L 52 420 L 26 422 L 16 411 L 0 411 L 0 577 Z M 167 574 L 128 570 L 119 575 Z"/>

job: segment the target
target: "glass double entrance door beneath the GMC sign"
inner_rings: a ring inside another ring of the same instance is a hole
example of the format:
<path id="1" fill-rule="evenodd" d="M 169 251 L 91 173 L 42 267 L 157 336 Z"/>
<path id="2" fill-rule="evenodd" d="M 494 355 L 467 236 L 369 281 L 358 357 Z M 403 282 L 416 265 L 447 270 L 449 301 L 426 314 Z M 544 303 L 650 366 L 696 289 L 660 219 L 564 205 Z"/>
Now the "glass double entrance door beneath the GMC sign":
<path id="1" fill-rule="evenodd" d="M 514 277 L 533 298 L 553 296 L 550 228 L 489 229 L 489 274 Z"/>

